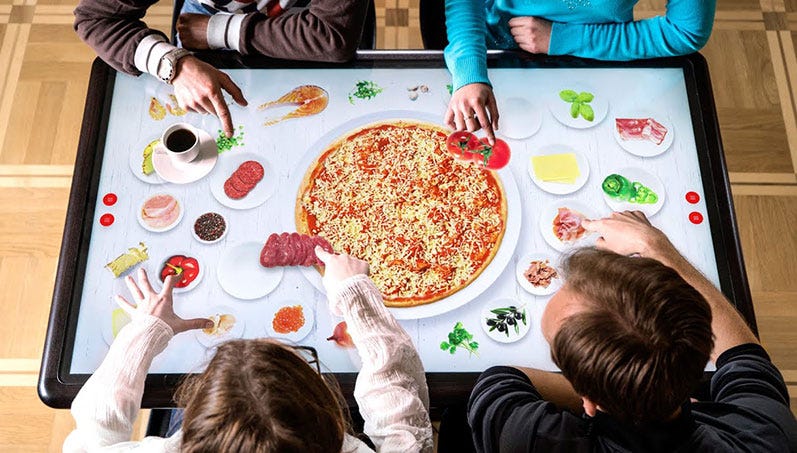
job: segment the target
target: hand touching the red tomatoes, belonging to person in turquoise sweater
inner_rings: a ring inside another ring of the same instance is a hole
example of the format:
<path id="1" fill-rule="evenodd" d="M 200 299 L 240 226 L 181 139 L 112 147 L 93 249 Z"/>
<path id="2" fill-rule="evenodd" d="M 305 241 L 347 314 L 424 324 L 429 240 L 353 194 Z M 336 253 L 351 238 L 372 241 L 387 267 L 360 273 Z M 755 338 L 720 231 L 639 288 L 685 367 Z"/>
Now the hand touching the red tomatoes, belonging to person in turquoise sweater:
<path id="1" fill-rule="evenodd" d="M 455 91 L 448 103 L 445 123 L 458 131 L 484 129 L 487 140 L 494 145 L 495 131 L 498 129 L 498 104 L 490 85 L 470 83 Z"/>

